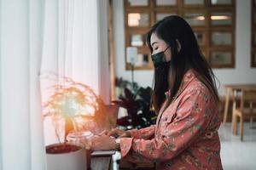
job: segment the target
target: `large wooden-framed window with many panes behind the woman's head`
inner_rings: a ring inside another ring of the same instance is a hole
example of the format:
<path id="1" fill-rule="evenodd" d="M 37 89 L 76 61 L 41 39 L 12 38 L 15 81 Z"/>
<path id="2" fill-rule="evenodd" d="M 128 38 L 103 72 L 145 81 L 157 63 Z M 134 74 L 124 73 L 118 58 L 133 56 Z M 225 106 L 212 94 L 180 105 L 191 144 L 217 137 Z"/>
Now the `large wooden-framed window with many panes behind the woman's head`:
<path id="1" fill-rule="evenodd" d="M 171 14 L 187 20 L 195 31 L 202 54 L 213 68 L 233 68 L 235 7 L 235 0 L 125 0 L 125 48 L 137 47 L 135 69 L 153 69 L 146 33 L 155 22 Z M 256 21 L 254 23 L 256 38 Z M 254 42 L 253 56 L 256 56 L 256 40 Z M 252 59 L 255 64 L 256 57 Z M 131 69 L 127 62 L 126 69 Z"/>

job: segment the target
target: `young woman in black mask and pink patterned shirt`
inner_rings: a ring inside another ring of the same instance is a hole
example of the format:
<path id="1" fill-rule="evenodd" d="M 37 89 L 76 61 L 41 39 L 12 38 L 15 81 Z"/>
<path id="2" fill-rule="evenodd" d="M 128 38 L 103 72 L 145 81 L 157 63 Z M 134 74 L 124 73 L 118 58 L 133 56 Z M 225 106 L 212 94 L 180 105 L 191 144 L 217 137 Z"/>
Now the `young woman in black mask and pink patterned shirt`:
<path id="1" fill-rule="evenodd" d="M 152 26 L 147 42 L 154 63 L 156 125 L 116 128 L 108 135 L 119 135 L 125 160 L 153 161 L 157 169 L 222 169 L 218 91 L 194 32 L 172 15 Z M 106 135 L 96 138 L 93 147 L 108 150 L 115 143 Z"/>

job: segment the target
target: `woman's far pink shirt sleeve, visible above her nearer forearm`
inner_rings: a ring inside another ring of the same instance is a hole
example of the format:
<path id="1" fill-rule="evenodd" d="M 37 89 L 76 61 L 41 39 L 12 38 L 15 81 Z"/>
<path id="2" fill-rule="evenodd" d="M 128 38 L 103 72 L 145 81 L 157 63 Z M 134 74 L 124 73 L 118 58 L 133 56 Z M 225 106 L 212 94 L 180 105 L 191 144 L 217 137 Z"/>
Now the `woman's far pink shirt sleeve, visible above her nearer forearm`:
<path id="1" fill-rule="evenodd" d="M 153 139 L 154 138 L 154 129 L 155 125 L 150 127 L 145 127 L 142 129 L 133 129 L 130 130 L 131 138 L 133 139 Z"/>

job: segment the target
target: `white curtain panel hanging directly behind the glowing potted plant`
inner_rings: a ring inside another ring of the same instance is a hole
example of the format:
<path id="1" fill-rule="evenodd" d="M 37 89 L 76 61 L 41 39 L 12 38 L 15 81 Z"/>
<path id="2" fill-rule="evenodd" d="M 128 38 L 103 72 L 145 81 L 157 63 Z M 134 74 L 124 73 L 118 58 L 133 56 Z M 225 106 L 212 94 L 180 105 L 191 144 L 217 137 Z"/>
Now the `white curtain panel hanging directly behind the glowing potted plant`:
<path id="1" fill-rule="evenodd" d="M 44 17 L 43 101 L 49 99 L 50 86 L 69 77 L 93 88 L 108 104 L 108 1 L 45 0 Z M 44 119 L 44 136 L 46 145 L 58 142 L 50 117 Z"/>

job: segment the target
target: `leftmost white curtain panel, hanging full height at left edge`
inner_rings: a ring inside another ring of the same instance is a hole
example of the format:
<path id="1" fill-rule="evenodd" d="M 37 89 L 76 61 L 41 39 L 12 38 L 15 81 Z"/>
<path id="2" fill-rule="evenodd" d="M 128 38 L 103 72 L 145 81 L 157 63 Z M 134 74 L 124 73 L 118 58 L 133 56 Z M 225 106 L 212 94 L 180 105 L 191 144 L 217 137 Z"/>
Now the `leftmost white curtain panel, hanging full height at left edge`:
<path id="1" fill-rule="evenodd" d="M 39 90 L 44 1 L 0 1 L 0 169 L 45 169 Z"/>

